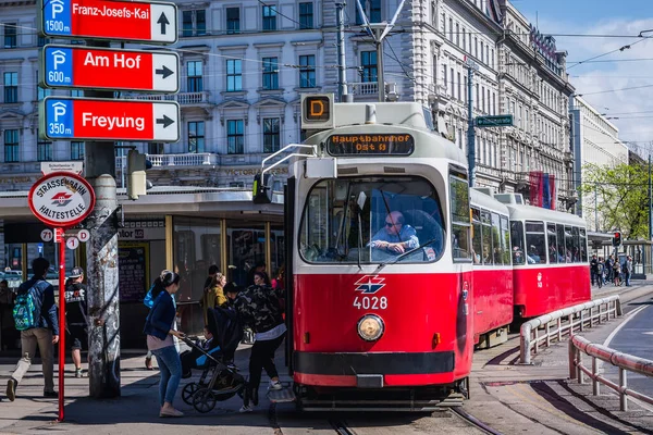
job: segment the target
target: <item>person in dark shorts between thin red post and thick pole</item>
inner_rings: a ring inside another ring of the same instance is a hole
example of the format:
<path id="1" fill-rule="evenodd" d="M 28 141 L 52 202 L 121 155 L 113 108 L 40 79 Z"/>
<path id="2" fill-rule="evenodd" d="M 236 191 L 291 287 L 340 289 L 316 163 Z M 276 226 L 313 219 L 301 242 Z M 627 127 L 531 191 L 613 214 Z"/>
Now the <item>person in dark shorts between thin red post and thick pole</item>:
<path id="1" fill-rule="evenodd" d="M 73 268 L 65 285 L 65 331 L 69 335 L 75 377 L 82 377 L 82 349 L 88 348 L 88 318 L 84 270 Z"/>

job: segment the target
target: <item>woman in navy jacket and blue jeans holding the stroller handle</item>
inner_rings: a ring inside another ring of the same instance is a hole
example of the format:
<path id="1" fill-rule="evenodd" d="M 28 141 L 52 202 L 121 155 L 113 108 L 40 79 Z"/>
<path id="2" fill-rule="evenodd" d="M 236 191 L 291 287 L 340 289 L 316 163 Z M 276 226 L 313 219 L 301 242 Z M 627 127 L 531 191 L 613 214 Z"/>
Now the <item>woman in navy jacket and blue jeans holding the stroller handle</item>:
<path id="1" fill-rule="evenodd" d="M 183 338 L 175 331 L 176 306 L 173 295 L 180 289 L 180 275 L 168 272 L 161 278 L 165 291 L 161 291 L 152 304 L 143 332 L 147 335 L 147 348 L 155 357 L 161 371 L 159 383 L 159 417 L 183 417 L 184 413 L 173 407 L 174 396 L 182 378 L 182 361 L 175 348 L 173 336 Z"/>

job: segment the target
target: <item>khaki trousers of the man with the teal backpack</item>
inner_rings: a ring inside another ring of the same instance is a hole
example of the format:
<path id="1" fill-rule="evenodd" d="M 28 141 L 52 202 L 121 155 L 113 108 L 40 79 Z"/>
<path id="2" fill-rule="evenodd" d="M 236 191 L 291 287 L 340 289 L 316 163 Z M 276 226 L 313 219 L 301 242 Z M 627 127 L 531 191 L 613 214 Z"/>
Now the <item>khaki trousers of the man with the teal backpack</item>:
<path id="1" fill-rule="evenodd" d="M 36 346 L 41 356 L 41 364 L 45 378 L 45 390 L 48 393 L 54 391 L 54 359 L 52 358 L 52 330 L 46 327 L 34 327 L 27 331 L 21 331 L 21 352 L 23 358 L 19 360 L 16 370 L 13 372 L 13 377 L 19 384 L 29 370 L 32 359 L 36 355 Z"/>

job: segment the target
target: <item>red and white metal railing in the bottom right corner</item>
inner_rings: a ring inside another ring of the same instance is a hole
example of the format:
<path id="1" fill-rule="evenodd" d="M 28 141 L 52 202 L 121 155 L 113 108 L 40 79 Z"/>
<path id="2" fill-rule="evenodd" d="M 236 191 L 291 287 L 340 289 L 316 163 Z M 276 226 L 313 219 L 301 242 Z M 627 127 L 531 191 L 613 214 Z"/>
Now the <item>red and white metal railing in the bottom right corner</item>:
<path id="1" fill-rule="evenodd" d="M 592 369 L 588 369 L 582 364 L 583 352 L 592 357 Z M 596 360 L 609 362 L 619 369 L 618 384 L 599 374 L 600 368 Z M 653 361 L 621 353 L 602 345 L 595 345 L 578 335 L 571 336 L 569 340 L 569 378 L 578 380 L 579 384 L 583 384 L 583 374 L 590 376 L 592 380 L 592 394 L 594 396 L 599 396 L 601 393 L 599 388 L 600 384 L 614 389 L 619 395 L 619 408 L 621 411 L 628 411 L 628 396 L 653 405 L 653 398 L 628 388 L 629 371 L 653 377 Z"/>

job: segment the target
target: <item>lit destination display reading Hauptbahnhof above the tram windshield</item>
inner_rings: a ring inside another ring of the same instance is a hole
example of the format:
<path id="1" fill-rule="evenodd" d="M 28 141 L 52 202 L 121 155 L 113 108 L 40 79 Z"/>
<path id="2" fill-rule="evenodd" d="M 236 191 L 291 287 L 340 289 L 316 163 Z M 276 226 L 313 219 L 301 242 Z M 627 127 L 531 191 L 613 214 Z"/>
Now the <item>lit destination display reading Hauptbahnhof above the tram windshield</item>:
<path id="1" fill-rule="evenodd" d="M 406 133 L 335 134 L 326 139 L 331 156 L 410 156 L 415 139 Z"/>

